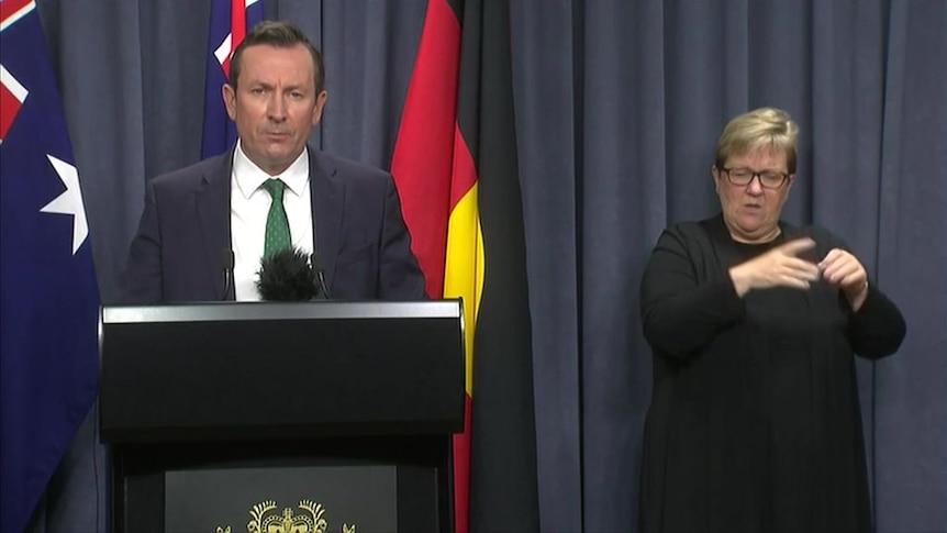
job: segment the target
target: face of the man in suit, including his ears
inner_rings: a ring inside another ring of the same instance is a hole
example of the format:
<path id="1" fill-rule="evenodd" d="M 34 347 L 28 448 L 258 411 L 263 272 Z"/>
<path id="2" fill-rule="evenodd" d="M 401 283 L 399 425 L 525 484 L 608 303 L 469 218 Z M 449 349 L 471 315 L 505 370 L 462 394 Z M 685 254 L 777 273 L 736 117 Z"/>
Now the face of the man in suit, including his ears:
<path id="1" fill-rule="evenodd" d="M 280 174 L 299 157 L 322 119 L 327 95 L 315 92 L 312 55 L 302 44 L 248 46 L 236 81 L 237 89 L 225 85 L 223 95 L 241 147 L 266 173 Z"/>

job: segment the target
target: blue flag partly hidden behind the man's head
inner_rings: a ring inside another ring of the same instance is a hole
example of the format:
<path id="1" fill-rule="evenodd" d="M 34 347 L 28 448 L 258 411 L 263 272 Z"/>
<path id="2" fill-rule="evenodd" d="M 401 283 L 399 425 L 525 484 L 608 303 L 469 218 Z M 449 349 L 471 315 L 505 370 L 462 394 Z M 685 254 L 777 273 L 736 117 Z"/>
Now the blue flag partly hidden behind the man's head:
<path id="1" fill-rule="evenodd" d="M 263 0 L 211 2 L 201 158 L 223 154 L 236 142 L 236 126 L 227 116 L 222 87 L 230 76 L 231 55 L 246 36 L 246 32 L 263 21 Z"/>

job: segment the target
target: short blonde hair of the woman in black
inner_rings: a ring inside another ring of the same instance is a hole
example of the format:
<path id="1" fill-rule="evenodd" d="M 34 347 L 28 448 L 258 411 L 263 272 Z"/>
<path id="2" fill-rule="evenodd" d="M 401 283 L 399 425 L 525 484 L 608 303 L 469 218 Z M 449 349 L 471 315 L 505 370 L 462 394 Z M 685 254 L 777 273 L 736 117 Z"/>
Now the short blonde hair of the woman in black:
<path id="1" fill-rule="evenodd" d="M 786 111 L 759 108 L 731 120 L 716 144 L 714 164 L 723 168 L 736 154 L 775 149 L 786 152 L 789 174 L 795 174 L 795 147 L 799 126 Z"/>

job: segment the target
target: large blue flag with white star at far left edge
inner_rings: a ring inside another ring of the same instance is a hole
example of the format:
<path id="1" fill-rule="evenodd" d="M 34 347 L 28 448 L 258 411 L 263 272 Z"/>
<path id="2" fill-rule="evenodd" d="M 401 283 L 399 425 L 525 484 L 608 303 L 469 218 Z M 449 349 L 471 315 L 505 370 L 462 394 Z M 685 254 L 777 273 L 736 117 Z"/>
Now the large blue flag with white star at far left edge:
<path id="1" fill-rule="evenodd" d="M 0 515 L 23 531 L 96 397 L 99 290 L 32 0 L 0 0 Z"/>

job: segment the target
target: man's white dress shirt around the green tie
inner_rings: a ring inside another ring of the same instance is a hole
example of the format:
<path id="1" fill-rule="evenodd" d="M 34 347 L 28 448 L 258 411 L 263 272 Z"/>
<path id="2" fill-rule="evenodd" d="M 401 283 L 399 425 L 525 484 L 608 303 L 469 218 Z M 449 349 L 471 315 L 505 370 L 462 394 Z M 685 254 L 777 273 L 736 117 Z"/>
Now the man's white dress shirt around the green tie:
<path id="1" fill-rule="evenodd" d="M 231 243 L 234 251 L 234 293 L 237 300 L 259 300 L 256 280 L 266 238 L 266 219 L 270 196 L 263 184 L 267 179 L 286 184 L 282 206 L 289 220 L 292 245 L 312 254 L 312 202 L 309 193 L 309 154 L 307 149 L 289 168 L 270 176 L 244 154 L 237 141 L 231 175 Z"/>

